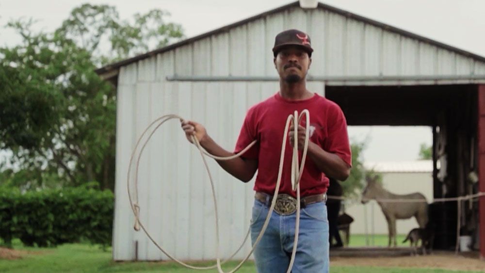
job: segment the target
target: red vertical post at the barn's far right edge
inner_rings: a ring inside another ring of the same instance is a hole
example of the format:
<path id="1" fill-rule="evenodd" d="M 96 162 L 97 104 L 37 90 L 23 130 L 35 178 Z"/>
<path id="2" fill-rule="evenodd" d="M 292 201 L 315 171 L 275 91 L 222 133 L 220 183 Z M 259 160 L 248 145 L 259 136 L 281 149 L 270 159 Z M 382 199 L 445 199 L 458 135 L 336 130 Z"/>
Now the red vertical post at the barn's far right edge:
<path id="1" fill-rule="evenodd" d="M 478 86 L 478 172 L 479 191 L 485 192 L 485 84 Z M 485 198 L 479 201 L 480 257 L 485 259 Z"/>

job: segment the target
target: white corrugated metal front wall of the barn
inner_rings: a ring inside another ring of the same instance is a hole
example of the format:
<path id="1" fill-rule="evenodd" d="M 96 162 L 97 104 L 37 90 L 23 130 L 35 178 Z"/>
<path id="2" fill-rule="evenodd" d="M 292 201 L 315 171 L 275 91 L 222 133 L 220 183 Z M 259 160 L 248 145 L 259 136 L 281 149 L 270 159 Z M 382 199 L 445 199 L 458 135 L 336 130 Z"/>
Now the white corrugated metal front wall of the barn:
<path id="1" fill-rule="evenodd" d="M 278 90 L 276 82 L 178 82 L 165 77 L 276 76 L 271 48 L 275 34 L 289 28 L 310 34 L 315 48 L 310 68 L 313 76 L 485 74 L 485 64 L 469 57 L 322 9 L 299 8 L 121 67 L 115 260 L 166 259 L 143 232 L 134 232 L 126 190 L 129 156 L 146 126 L 163 114 L 176 113 L 204 124 L 213 139 L 231 150 L 246 110 Z M 309 82 L 308 89 L 324 92 L 322 82 Z M 215 161 L 209 162 L 218 196 L 221 253 L 228 257 L 249 227 L 253 182 L 237 181 Z M 214 211 L 208 177 L 198 151 L 188 145 L 177 121 L 155 133 L 141 159 L 138 179 L 141 221 L 155 240 L 179 259 L 214 259 Z M 247 243 L 236 258 L 244 257 L 249 249 Z"/>

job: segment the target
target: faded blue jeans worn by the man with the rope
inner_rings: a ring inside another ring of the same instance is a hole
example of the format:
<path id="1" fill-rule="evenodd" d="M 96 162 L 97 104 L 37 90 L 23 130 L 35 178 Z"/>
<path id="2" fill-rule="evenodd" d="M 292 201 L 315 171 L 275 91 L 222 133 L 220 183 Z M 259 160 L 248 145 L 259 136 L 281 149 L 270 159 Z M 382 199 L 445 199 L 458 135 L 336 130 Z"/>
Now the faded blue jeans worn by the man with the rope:
<path id="1" fill-rule="evenodd" d="M 255 200 L 251 221 L 254 244 L 263 227 L 269 207 Z M 263 237 L 254 250 L 258 273 L 286 273 L 290 265 L 295 235 L 296 212 L 282 216 L 273 211 Z M 307 205 L 300 210 L 300 232 L 292 273 L 327 273 L 328 220 L 325 203 Z"/>

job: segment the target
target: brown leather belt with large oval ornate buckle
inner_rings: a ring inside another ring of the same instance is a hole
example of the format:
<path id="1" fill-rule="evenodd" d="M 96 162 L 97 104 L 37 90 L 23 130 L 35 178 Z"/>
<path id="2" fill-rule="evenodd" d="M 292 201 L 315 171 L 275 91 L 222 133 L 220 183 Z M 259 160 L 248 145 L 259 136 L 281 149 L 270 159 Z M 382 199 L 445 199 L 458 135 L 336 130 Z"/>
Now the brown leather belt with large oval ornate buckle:
<path id="1" fill-rule="evenodd" d="M 266 207 L 271 206 L 271 202 L 273 202 L 273 196 L 266 193 L 256 192 L 254 197 L 256 198 L 256 200 L 259 200 L 261 203 L 264 203 Z M 300 208 L 303 209 L 307 205 L 310 205 L 313 203 L 326 202 L 326 200 L 327 200 L 327 195 L 325 193 L 301 197 Z M 276 204 L 275 204 L 274 210 L 279 215 L 290 215 L 295 213 L 296 198 L 285 193 L 278 194 L 278 198 L 276 198 Z"/>

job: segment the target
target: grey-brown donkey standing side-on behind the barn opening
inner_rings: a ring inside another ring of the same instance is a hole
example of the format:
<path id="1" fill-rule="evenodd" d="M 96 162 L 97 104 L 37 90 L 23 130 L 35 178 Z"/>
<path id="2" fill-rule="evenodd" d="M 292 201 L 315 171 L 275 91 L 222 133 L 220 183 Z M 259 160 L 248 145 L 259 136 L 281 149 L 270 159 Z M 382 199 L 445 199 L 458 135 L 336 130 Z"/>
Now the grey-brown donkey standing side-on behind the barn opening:
<path id="1" fill-rule="evenodd" d="M 421 193 L 410 193 L 405 195 L 394 194 L 386 191 L 377 181 L 377 176 L 366 176 L 367 186 L 362 193 L 362 204 L 366 204 L 371 199 L 376 199 L 382 209 L 389 230 L 389 247 L 391 241 L 394 246 L 396 243 L 396 219 L 408 219 L 415 217 L 420 228 L 424 228 L 428 223 L 428 203 Z M 380 199 L 413 199 L 418 202 L 392 202 L 379 201 Z"/>

